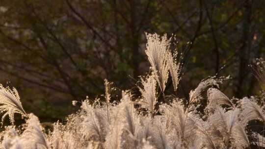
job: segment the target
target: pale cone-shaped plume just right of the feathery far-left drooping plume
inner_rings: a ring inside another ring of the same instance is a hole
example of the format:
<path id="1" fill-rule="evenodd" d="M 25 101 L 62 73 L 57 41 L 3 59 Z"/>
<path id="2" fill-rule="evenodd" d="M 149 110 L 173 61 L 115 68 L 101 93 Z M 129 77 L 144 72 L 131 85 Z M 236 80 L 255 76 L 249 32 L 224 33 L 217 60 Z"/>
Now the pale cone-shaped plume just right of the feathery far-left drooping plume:
<path id="1" fill-rule="evenodd" d="M 34 114 L 29 114 L 26 130 L 21 136 L 23 146 L 28 149 L 49 149 L 49 143 L 46 135 L 42 132 L 42 126 L 39 119 Z"/>

